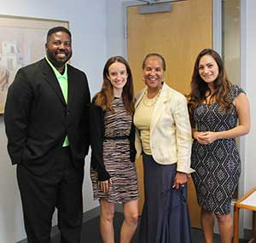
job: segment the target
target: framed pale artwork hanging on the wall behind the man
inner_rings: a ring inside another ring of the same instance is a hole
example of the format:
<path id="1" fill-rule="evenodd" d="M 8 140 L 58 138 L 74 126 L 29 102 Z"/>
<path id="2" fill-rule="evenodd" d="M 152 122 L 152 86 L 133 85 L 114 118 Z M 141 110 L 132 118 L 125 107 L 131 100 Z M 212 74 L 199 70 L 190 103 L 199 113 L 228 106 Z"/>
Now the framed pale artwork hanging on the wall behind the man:
<path id="1" fill-rule="evenodd" d="M 51 27 L 65 26 L 68 21 L 44 20 L 0 14 L 0 114 L 15 73 L 44 58 L 46 34 Z"/>

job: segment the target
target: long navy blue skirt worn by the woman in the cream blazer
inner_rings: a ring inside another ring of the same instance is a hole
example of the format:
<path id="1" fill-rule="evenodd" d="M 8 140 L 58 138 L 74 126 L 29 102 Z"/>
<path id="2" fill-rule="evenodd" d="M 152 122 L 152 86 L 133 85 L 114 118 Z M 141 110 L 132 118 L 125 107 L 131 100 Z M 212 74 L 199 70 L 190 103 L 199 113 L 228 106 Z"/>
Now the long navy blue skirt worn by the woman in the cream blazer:
<path id="1" fill-rule="evenodd" d="M 172 188 L 177 165 L 143 154 L 145 202 L 138 243 L 191 243 L 187 185 Z"/>

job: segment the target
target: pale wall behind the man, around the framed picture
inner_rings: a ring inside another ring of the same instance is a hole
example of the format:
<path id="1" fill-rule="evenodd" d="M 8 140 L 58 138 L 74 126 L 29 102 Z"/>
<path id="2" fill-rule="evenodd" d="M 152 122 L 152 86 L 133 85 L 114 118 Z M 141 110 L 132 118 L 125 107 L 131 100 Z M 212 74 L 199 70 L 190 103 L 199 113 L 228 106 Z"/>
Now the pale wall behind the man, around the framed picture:
<path id="1" fill-rule="evenodd" d="M 0 14 L 68 20 L 73 34 L 72 65 L 86 72 L 91 94 L 102 84 L 102 67 L 106 61 L 106 1 L 76 0 L 0 0 Z M 15 166 L 6 149 L 3 116 L 0 116 L 0 242 L 14 243 L 26 238 L 17 188 Z M 92 200 L 89 162 L 86 159 L 84 179 L 84 211 L 96 207 Z M 55 223 L 55 219 L 54 219 Z"/>

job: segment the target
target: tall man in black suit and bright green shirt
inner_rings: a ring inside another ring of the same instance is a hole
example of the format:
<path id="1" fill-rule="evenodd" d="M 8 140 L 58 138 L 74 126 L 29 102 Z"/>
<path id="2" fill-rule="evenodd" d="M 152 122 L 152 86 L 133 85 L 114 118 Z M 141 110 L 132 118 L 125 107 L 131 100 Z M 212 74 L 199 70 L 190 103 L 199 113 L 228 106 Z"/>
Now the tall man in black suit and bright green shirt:
<path id="1" fill-rule="evenodd" d="M 80 242 L 90 90 L 84 72 L 67 64 L 71 41 L 67 28 L 50 29 L 45 58 L 20 68 L 7 96 L 8 151 L 29 243 L 50 242 L 55 207 L 61 243 Z"/>

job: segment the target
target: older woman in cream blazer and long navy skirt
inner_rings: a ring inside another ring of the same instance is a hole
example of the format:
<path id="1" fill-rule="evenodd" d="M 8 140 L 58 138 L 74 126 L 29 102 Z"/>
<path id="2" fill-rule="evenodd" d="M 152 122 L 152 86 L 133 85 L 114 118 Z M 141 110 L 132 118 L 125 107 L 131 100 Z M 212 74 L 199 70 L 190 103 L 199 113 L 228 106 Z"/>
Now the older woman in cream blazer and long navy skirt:
<path id="1" fill-rule="evenodd" d="M 146 87 L 136 95 L 137 157 L 143 154 L 145 203 L 140 243 L 189 243 L 187 200 L 191 127 L 186 98 L 163 82 L 166 62 L 159 54 L 143 61 Z"/>

